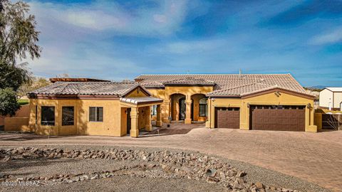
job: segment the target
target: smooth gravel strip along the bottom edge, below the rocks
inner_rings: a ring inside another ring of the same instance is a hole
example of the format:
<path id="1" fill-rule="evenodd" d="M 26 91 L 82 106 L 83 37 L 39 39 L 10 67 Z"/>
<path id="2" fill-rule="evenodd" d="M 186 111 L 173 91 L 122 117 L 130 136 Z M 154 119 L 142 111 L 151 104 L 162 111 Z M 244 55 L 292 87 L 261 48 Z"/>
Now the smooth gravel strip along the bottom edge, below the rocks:
<path id="1" fill-rule="evenodd" d="M 0 188 L 0 191 L 228 191 L 214 183 L 180 178 L 138 178 L 114 176 L 76 183 L 57 183 L 53 186 L 16 186 Z"/>

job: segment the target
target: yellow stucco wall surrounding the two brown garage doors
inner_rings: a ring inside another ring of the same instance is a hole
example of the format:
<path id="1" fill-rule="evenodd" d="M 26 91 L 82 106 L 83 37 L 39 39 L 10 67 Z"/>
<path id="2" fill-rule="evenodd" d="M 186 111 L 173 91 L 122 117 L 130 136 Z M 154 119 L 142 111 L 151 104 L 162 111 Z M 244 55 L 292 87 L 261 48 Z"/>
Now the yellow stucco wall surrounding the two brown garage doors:
<path id="1" fill-rule="evenodd" d="M 304 97 L 295 95 L 289 95 L 281 92 L 281 95 L 277 97 L 274 92 L 259 95 L 256 97 L 250 97 L 246 99 L 240 98 L 214 98 L 214 100 L 208 100 L 209 121 L 206 127 L 214 128 L 214 107 L 239 107 L 240 108 L 240 129 L 249 129 L 249 105 L 308 105 L 314 106 L 314 100 L 309 100 Z M 311 107 L 312 108 L 312 107 Z M 317 127 L 314 125 L 314 109 L 307 109 L 305 107 L 305 130 L 306 132 L 317 132 Z"/>

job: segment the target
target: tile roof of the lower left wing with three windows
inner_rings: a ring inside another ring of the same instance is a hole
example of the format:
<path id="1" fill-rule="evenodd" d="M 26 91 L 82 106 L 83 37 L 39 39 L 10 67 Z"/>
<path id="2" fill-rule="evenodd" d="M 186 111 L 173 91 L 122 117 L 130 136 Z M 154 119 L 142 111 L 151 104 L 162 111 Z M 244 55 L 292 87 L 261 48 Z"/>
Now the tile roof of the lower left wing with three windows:
<path id="1" fill-rule="evenodd" d="M 123 97 L 139 87 L 138 82 L 55 82 L 28 95 L 113 95 Z M 145 90 L 144 87 L 141 87 Z M 147 90 L 145 90 L 149 93 Z"/>

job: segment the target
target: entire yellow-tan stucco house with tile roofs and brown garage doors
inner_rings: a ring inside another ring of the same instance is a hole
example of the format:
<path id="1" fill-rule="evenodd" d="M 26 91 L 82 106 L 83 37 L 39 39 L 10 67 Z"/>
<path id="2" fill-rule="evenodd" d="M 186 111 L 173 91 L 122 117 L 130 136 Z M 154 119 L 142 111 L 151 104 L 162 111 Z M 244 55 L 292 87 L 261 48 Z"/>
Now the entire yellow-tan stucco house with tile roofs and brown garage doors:
<path id="1" fill-rule="evenodd" d="M 28 94 L 37 134 L 138 137 L 162 123 L 317 132 L 314 96 L 290 74 L 139 75 L 135 82 L 56 81 Z"/>

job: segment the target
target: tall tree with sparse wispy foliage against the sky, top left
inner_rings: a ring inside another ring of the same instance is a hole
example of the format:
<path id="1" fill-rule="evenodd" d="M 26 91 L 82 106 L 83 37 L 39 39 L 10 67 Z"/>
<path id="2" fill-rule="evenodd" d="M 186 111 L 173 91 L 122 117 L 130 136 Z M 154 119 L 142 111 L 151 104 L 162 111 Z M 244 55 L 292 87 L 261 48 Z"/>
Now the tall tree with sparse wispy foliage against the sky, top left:
<path id="1" fill-rule="evenodd" d="M 29 6 L 23 1 L 11 4 L 4 0 L 0 12 L 0 60 L 16 63 L 16 58 L 39 58 L 41 48 L 36 44 L 38 34 L 35 17 L 28 14 Z"/>

